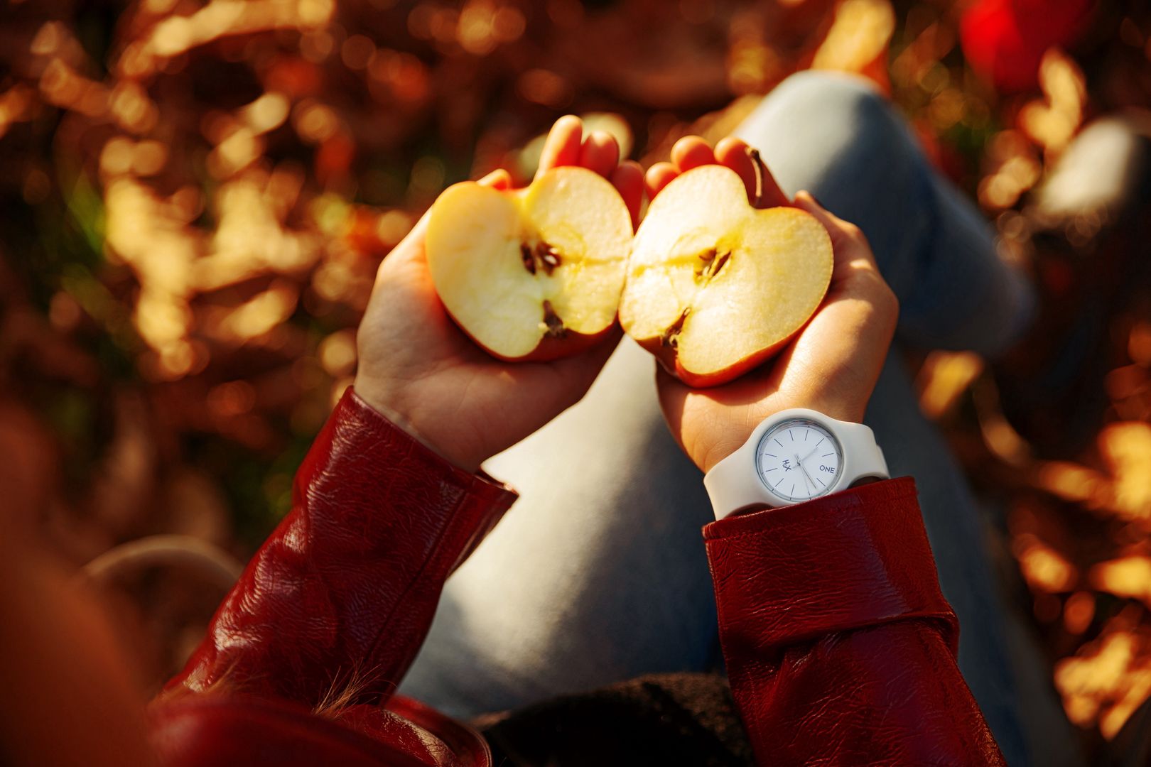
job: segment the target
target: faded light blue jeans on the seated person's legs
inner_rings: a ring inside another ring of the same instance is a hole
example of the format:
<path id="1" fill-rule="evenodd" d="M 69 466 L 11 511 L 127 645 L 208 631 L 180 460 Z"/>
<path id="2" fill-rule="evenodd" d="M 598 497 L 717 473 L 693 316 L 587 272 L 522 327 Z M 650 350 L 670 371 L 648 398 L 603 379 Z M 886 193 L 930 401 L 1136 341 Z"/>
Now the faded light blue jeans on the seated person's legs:
<path id="1" fill-rule="evenodd" d="M 1027 327 L 1030 286 L 863 80 L 795 75 L 737 133 L 784 191 L 810 191 L 868 236 L 900 300 L 898 344 L 994 354 Z M 864 420 L 892 475 L 918 484 L 960 619 L 960 668 L 1008 761 L 1075 764 L 1038 655 L 1012 652 L 1026 637 L 1000 599 L 980 509 L 921 414 L 898 348 Z M 625 339 L 584 400 L 486 468 L 521 498 L 448 581 L 402 692 L 468 716 L 647 673 L 716 668 L 700 536 L 711 509 L 661 417 L 646 352 Z"/>

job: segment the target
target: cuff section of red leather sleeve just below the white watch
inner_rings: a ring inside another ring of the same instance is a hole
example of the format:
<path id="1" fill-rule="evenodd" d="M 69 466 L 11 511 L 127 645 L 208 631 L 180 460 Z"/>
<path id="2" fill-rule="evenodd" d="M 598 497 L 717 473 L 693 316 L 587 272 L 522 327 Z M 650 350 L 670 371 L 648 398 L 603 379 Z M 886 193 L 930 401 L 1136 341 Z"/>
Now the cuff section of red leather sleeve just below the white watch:
<path id="1" fill-rule="evenodd" d="M 724 644 L 756 652 L 895 620 L 958 623 L 910 477 L 704 527 Z"/>

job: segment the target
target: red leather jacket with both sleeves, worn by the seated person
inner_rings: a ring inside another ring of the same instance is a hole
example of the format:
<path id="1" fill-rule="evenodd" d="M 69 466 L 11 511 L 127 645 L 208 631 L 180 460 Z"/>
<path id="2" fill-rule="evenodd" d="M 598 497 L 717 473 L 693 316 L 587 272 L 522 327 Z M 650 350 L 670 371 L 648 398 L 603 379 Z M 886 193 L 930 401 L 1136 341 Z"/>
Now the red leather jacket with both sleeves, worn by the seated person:
<path id="1" fill-rule="evenodd" d="M 392 691 L 444 580 L 514 498 L 349 391 L 296 476 L 291 514 L 153 704 L 162 762 L 490 765 L 474 730 Z M 955 615 L 912 480 L 715 522 L 703 537 L 760 762 L 1003 764 L 955 665 Z"/>

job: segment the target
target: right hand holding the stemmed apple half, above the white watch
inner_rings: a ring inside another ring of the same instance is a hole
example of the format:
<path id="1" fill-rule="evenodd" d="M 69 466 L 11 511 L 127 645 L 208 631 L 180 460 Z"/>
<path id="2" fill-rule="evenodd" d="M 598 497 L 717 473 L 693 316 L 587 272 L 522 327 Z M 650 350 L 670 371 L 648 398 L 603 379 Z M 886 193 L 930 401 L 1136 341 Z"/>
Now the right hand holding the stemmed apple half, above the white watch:
<path id="1" fill-rule="evenodd" d="M 899 315 L 895 296 L 879 276 L 863 233 L 828 213 L 807 192 L 788 202 L 762 164 L 756 172 L 759 158 L 739 139 L 723 139 L 712 151 L 699 137 L 683 138 L 671 159 L 648 170 L 650 197 L 680 172 L 718 162 L 740 175 L 748 199 L 754 202 L 759 197 L 760 207 L 794 205 L 815 216 L 831 235 L 836 254 L 823 304 L 773 360 L 715 389 L 692 389 L 658 370 L 660 404 L 684 452 L 707 471 L 742 445 L 763 419 L 792 407 L 861 421 Z"/>

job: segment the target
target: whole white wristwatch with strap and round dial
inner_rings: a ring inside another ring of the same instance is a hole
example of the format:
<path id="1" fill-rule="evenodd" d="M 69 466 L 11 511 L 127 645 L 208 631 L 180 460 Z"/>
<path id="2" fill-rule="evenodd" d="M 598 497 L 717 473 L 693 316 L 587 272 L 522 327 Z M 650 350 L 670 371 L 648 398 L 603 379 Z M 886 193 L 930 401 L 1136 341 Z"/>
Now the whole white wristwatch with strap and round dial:
<path id="1" fill-rule="evenodd" d="M 711 467 L 703 486 L 722 520 L 753 504 L 791 506 L 864 477 L 889 476 L 871 429 L 795 408 L 765 419 L 734 453 Z"/>

